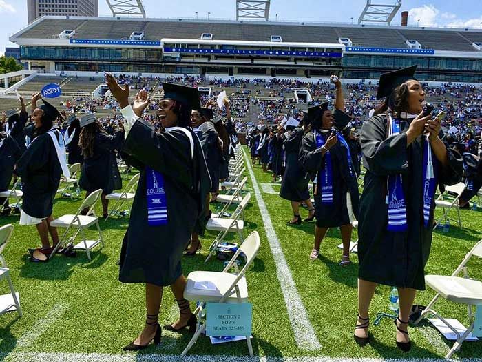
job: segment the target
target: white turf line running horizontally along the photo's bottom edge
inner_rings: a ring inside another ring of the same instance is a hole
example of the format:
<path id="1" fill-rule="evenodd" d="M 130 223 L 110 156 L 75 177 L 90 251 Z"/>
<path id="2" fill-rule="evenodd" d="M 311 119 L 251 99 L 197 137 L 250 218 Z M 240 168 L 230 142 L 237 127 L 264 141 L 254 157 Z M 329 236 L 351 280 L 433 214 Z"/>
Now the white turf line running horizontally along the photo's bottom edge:
<path id="1" fill-rule="evenodd" d="M 1 356 L 3 357 L 3 356 Z M 356 359 L 328 357 L 249 357 L 249 356 L 173 356 L 169 354 L 101 354 L 101 353 L 56 353 L 13 352 L 6 362 L 446 362 L 446 359 Z M 482 359 L 458 359 L 457 362 L 482 362 Z"/>

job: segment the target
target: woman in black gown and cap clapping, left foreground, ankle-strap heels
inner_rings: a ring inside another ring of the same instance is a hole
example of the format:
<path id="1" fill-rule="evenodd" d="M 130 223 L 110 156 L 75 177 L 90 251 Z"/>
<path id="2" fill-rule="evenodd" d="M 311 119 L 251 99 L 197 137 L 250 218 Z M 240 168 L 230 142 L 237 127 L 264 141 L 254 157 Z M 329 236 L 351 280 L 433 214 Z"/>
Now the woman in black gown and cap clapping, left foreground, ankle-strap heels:
<path id="1" fill-rule="evenodd" d="M 146 324 L 138 339 L 125 347 L 140 350 L 153 339 L 160 341 L 158 313 L 164 286 L 171 286 L 180 310 L 178 321 L 165 328 L 196 329 L 196 317 L 183 296 L 186 279 L 180 261 L 193 230 L 205 226 L 211 181 L 202 146 L 190 129 L 191 109 L 200 106 L 196 88 L 163 83 L 165 99 L 158 116 L 165 131 L 156 134 L 140 117 L 149 103 L 147 92 L 141 90 L 132 107 L 128 86 L 121 88 L 112 75 L 106 77 L 124 116 L 123 151 L 141 172 L 119 272 L 123 283 L 145 283 Z"/>

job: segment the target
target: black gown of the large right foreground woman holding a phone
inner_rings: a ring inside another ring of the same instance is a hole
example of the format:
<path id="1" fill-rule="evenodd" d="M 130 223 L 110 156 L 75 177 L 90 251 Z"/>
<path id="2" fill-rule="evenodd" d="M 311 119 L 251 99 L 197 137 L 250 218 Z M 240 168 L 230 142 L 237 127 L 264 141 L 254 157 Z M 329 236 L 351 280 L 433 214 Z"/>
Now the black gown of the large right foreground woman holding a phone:
<path id="1" fill-rule="evenodd" d="M 419 136 L 407 147 L 406 121 L 400 134 L 387 138 L 387 117 L 375 116 L 362 127 L 362 151 L 367 172 L 360 200 L 358 223 L 359 278 L 397 286 L 425 290 L 423 268 L 430 254 L 432 221 L 423 225 L 423 143 Z M 435 177 L 439 187 L 458 183 L 462 161 L 448 149 L 448 166 L 441 168 L 436 158 Z M 408 230 L 388 232 L 386 181 L 389 174 L 402 174 Z"/>

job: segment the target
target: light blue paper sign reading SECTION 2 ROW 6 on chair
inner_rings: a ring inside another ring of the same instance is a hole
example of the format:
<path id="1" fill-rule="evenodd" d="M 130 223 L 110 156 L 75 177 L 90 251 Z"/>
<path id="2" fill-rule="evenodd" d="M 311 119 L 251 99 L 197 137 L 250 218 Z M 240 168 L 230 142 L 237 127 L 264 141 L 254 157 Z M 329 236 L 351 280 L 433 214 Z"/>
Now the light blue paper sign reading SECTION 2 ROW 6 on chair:
<path id="1" fill-rule="evenodd" d="M 251 336 L 253 305 L 251 303 L 207 303 L 207 336 Z"/>

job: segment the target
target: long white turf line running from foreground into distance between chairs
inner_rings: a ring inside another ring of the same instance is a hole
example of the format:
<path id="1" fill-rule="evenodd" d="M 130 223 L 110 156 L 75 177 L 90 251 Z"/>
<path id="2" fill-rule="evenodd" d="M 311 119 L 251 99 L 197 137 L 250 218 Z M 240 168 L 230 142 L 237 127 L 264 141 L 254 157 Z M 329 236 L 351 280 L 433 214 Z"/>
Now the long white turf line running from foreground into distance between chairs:
<path id="1" fill-rule="evenodd" d="M 243 154 L 249 171 L 249 176 L 251 177 L 254 194 L 258 200 L 258 206 L 260 207 L 260 214 L 263 219 L 264 230 L 266 230 L 268 244 L 271 248 L 271 254 L 273 254 L 273 259 L 275 259 L 277 279 L 280 281 L 284 303 L 286 303 L 286 310 L 291 322 L 291 329 L 293 330 L 296 344 L 301 350 L 318 350 L 322 346 L 319 344 L 313 325 L 311 325 L 308 320 L 306 308 L 304 308 L 300 294 L 298 294 L 295 281 L 293 281 L 293 276 L 291 276 L 288 263 L 286 263 L 286 259 L 284 258 L 280 240 L 277 238 L 275 228 L 273 228 L 273 223 L 271 222 L 271 217 L 269 216 L 268 209 L 266 208 L 266 204 L 261 195 L 258 181 L 256 181 L 253 168 L 251 167 L 251 163 L 249 163 L 249 159 L 244 150 Z"/>

